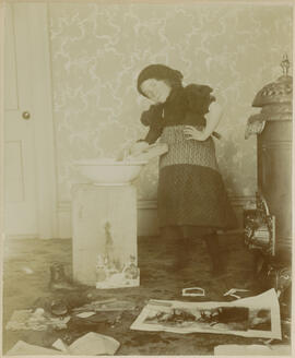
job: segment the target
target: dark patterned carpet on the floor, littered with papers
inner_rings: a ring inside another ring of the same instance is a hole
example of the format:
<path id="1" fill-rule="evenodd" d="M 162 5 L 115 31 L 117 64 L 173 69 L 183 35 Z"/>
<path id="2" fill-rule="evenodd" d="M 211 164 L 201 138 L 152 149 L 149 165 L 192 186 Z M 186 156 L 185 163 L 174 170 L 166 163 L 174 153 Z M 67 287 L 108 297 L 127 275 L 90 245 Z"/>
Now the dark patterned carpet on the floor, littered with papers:
<path id="1" fill-rule="evenodd" d="M 243 338 L 220 334 L 173 334 L 131 331 L 130 325 L 149 299 L 233 300 L 223 294 L 229 288 L 248 288 L 253 296 L 263 290 L 252 279 L 252 255 L 239 236 L 221 237 L 222 254 L 227 265 L 226 276 L 214 278 L 205 247 L 197 241 L 188 267 L 175 273 L 170 270 L 174 256 L 172 242 L 156 237 L 139 238 L 139 266 L 141 286 L 137 288 L 96 290 L 86 288 L 78 293 L 56 294 L 48 288 L 49 267 L 58 261 L 71 275 L 71 240 L 11 240 L 4 243 L 3 263 L 3 353 L 19 339 L 43 347 L 51 347 L 57 338 L 71 343 L 87 332 L 109 335 L 120 342 L 117 355 L 213 355 L 220 344 L 261 344 L 257 338 Z M 32 271 L 30 271 L 32 270 Z M 185 287 L 199 286 L 205 297 L 181 297 Z M 90 298 L 91 295 L 91 298 Z M 52 299 L 62 298 L 70 308 L 90 300 L 119 298 L 135 303 L 133 311 L 102 312 L 95 319 L 75 319 L 61 331 L 7 331 L 5 323 L 14 310 L 48 308 Z M 283 327 L 283 342 L 288 343 L 287 329 Z"/>

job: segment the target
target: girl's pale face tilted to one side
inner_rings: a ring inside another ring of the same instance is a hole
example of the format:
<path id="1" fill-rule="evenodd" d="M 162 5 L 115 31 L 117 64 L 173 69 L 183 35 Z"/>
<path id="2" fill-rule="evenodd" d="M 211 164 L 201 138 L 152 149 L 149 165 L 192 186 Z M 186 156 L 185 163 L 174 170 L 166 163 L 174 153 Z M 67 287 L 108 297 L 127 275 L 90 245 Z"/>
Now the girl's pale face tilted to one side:
<path id="1" fill-rule="evenodd" d="M 162 104 L 170 94 L 172 87 L 164 81 L 149 79 L 141 84 L 141 91 L 155 104 Z"/>

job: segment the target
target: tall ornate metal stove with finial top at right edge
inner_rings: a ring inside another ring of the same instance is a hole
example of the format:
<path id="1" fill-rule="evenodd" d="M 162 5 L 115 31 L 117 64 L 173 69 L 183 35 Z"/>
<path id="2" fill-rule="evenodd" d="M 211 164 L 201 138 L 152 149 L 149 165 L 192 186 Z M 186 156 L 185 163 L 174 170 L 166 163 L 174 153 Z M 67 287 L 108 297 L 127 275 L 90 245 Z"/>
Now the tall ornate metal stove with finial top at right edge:
<path id="1" fill-rule="evenodd" d="M 245 133 L 257 135 L 258 165 L 256 207 L 244 212 L 245 241 L 258 253 L 256 273 L 267 266 L 278 290 L 282 275 L 291 283 L 292 264 L 293 77 L 286 55 L 281 67 L 283 75 L 255 97 L 252 106 L 262 109 L 248 119 Z"/>

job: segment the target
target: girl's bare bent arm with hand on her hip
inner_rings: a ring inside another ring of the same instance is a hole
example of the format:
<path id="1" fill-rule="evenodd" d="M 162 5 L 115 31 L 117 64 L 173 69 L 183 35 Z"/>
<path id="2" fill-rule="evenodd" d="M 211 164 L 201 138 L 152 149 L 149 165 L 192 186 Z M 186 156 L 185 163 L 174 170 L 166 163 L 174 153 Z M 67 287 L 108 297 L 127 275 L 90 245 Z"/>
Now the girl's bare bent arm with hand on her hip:
<path id="1" fill-rule="evenodd" d="M 222 118 L 222 108 L 216 102 L 213 102 L 210 105 L 209 112 L 205 115 L 205 118 L 206 126 L 203 131 L 199 131 L 192 126 L 186 126 L 184 132 L 187 140 L 205 141 L 214 132 Z"/>

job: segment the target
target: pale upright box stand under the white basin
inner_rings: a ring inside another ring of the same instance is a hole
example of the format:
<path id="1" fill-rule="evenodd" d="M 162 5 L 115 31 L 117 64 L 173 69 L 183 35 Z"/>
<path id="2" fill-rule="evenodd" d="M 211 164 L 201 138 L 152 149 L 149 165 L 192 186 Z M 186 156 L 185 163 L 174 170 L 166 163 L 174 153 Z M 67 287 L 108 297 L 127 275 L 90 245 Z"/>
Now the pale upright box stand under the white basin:
<path id="1" fill-rule="evenodd" d="M 96 288 L 139 286 L 137 190 L 72 188 L 73 278 Z"/>

